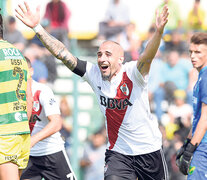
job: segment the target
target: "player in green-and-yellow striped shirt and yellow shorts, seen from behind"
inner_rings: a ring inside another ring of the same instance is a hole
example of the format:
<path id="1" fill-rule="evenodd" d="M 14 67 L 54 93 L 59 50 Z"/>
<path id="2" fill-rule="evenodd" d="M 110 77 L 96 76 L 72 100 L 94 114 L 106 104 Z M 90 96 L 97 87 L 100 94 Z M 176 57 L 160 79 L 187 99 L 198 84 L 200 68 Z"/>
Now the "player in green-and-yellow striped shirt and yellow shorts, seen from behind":
<path id="1" fill-rule="evenodd" d="M 3 40 L 0 14 L 0 179 L 18 180 L 30 151 L 31 78 L 21 52 Z"/>

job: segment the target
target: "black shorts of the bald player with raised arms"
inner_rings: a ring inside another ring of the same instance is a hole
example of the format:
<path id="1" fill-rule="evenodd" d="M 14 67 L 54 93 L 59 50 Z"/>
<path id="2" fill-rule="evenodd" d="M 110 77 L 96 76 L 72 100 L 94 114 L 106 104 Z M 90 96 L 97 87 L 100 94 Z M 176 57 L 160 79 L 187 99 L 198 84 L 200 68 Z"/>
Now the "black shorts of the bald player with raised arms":
<path id="1" fill-rule="evenodd" d="M 169 179 L 162 150 L 137 156 L 106 150 L 104 177 L 107 176 L 117 176 L 125 180 L 137 180 L 137 178 L 138 180 Z M 108 177 L 108 179 L 110 178 Z"/>

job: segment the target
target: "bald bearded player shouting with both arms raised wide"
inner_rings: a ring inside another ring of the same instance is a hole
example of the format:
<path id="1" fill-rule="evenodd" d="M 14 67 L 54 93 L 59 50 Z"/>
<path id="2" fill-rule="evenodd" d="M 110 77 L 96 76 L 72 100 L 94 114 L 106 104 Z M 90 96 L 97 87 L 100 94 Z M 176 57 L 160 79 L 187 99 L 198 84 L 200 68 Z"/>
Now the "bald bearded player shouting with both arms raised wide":
<path id="1" fill-rule="evenodd" d="M 109 139 L 105 180 L 168 179 L 162 137 L 150 113 L 147 91 L 148 73 L 167 23 L 168 7 L 164 6 L 161 13 L 157 11 L 156 32 L 139 60 L 124 65 L 123 48 L 116 42 L 103 42 L 97 52 L 97 64 L 92 64 L 74 57 L 43 29 L 39 7 L 33 13 L 25 2 L 16 12 L 45 47 L 96 93 Z"/>

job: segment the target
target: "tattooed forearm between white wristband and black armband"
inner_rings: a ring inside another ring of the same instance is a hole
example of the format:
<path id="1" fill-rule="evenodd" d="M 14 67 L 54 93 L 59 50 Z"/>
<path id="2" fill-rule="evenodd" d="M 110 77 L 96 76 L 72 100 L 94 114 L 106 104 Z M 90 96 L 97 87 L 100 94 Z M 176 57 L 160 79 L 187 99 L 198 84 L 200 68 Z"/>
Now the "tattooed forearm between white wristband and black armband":
<path id="1" fill-rule="evenodd" d="M 67 50 L 62 42 L 51 36 L 44 28 L 41 28 L 36 35 L 57 59 L 60 59 L 71 71 L 75 69 L 77 58 Z"/>

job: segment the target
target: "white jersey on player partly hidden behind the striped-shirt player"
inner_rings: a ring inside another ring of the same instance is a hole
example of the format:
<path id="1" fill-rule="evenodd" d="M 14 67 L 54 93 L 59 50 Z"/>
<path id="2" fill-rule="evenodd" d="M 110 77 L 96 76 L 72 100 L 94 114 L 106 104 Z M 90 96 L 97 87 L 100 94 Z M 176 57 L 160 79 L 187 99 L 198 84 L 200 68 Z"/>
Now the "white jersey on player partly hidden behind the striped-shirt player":
<path id="1" fill-rule="evenodd" d="M 32 82 L 34 98 L 32 118 L 30 120 L 31 136 L 41 131 L 48 123 L 47 116 L 60 114 L 58 103 L 52 90 L 45 84 Z M 31 156 L 43 156 L 59 152 L 64 149 L 64 141 L 59 132 L 39 141 L 30 150 Z"/>

